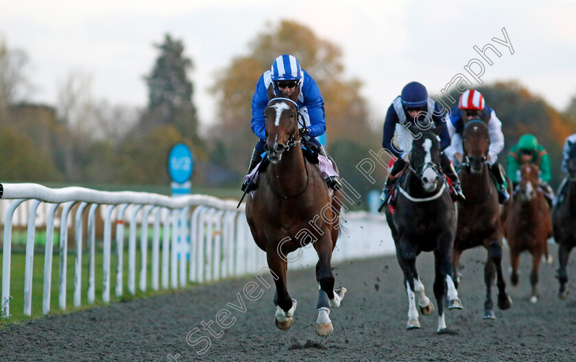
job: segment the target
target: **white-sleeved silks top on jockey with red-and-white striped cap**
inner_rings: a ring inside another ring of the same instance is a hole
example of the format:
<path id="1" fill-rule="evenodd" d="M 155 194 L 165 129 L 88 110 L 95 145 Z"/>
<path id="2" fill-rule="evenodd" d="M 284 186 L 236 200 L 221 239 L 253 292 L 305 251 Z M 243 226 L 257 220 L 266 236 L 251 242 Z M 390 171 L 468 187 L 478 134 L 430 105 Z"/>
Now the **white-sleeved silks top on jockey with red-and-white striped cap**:
<path id="1" fill-rule="evenodd" d="M 496 112 L 494 112 L 492 108 L 485 106 L 480 118 L 486 119 L 488 116 L 490 116 L 490 120 L 488 121 L 488 136 L 490 137 L 488 154 L 490 155 L 490 159 L 488 160 L 488 163 L 492 166 L 496 160 L 498 160 L 498 154 L 504 148 L 504 134 L 502 133 L 502 122 L 498 117 L 496 117 Z M 456 153 L 464 155 L 464 149 L 462 148 L 464 121 L 462 120 L 461 110 L 459 110 L 457 106 L 453 108 L 450 121 L 447 123 L 448 132 L 450 133 L 452 141 L 450 146 L 444 150 L 444 153 L 453 163 L 455 163 L 455 165 L 458 165 L 459 161 L 455 160 L 454 155 Z"/>

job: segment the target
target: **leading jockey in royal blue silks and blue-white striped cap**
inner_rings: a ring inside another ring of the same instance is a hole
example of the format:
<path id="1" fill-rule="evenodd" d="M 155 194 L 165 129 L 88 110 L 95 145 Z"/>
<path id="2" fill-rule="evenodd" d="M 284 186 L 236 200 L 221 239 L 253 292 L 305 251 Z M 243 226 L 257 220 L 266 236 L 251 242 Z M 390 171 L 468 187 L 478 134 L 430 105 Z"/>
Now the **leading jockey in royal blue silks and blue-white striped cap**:
<path id="1" fill-rule="evenodd" d="M 252 97 L 252 132 L 259 137 L 258 143 L 254 146 L 252 158 L 250 159 L 250 173 L 262 160 L 265 136 L 264 110 L 268 104 L 267 88 L 272 85 L 274 94 L 285 93 L 291 95 L 296 86 L 300 86 L 298 95 L 298 121 L 300 136 L 306 138 L 310 147 L 316 147 L 322 156 L 326 156 L 326 150 L 315 137 L 322 136 L 326 132 L 326 116 L 324 114 L 324 99 L 320 94 L 320 88 L 315 80 L 300 67 L 300 62 L 296 57 L 290 55 L 279 56 L 272 63 L 269 71 L 265 71 L 256 83 L 256 90 Z M 339 189 L 341 184 L 336 176 L 326 178 L 326 183 L 332 189 Z M 250 179 L 246 179 L 242 184 L 242 191 L 256 189 L 256 184 Z"/>

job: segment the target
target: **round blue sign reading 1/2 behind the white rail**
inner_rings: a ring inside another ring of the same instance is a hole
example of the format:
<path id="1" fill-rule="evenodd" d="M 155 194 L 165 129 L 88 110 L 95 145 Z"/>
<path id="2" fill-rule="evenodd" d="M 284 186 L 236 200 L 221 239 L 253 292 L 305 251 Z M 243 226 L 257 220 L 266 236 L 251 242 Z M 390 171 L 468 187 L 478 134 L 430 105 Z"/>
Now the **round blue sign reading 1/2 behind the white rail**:
<path id="1" fill-rule="evenodd" d="M 178 143 L 170 151 L 168 157 L 168 172 L 172 179 L 172 196 L 190 194 L 190 178 L 192 176 L 192 153 L 187 145 Z"/>

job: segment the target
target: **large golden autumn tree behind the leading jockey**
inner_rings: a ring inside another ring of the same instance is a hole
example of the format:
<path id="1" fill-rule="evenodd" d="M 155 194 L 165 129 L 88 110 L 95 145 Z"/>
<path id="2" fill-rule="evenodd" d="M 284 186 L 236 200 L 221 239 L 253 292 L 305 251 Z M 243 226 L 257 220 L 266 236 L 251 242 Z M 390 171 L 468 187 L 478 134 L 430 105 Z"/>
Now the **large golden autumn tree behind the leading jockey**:
<path id="1" fill-rule="evenodd" d="M 212 92 L 217 98 L 217 125 L 213 134 L 219 139 L 219 149 L 213 154 L 226 154 L 226 167 L 245 173 L 256 136 L 250 128 L 250 104 L 256 82 L 270 69 L 274 58 L 289 53 L 296 56 L 316 80 L 326 108 L 326 136 L 328 150 L 338 141 L 363 144 L 365 155 L 368 146 L 379 144 L 368 125 L 366 101 L 359 95 L 361 82 L 345 80 L 342 51 L 337 45 L 317 38 L 304 25 L 294 21 L 280 21 L 269 25 L 250 43 L 247 56 L 234 58 L 230 65 L 219 72 Z M 222 148 L 224 145 L 224 149 Z M 357 173 L 355 165 L 360 160 L 337 159 L 340 171 Z"/>

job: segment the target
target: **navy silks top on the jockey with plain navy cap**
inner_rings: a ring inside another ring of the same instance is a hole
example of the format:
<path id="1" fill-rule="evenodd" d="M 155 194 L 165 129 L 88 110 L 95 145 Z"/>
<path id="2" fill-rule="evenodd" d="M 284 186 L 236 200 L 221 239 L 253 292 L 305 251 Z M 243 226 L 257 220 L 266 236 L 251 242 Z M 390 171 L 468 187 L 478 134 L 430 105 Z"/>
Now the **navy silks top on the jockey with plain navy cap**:
<path id="1" fill-rule="evenodd" d="M 440 109 L 440 106 L 435 104 L 433 99 L 428 98 L 427 107 L 429 110 L 433 109 L 434 111 L 426 112 L 425 114 L 423 113 L 420 117 L 424 117 L 428 120 L 431 118 L 435 127 L 442 127 L 446 116 Z M 412 133 L 405 127 L 407 121 L 414 123 L 414 121 L 411 120 L 411 117 L 404 110 L 400 96 L 398 96 L 396 99 L 394 99 L 392 104 L 389 106 L 388 111 L 386 112 L 382 147 L 387 149 L 394 156 L 402 158 L 406 162 L 408 162 L 408 156 L 410 150 L 412 149 L 413 141 Z M 414 135 L 418 136 L 416 133 Z M 439 136 L 440 150 L 443 150 L 448 147 L 448 145 L 450 145 L 450 134 L 448 134 L 446 127 L 442 128 Z"/>

